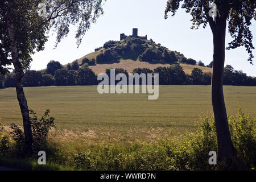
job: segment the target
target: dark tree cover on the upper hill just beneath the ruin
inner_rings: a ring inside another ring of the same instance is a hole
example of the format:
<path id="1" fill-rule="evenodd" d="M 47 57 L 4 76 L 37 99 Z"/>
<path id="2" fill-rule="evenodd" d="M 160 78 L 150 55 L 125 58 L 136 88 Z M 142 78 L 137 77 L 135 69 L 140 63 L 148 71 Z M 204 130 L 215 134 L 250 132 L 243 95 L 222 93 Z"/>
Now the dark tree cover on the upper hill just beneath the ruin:
<path id="1" fill-rule="evenodd" d="M 100 51 L 96 57 L 97 64 L 114 63 L 120 59 L 140 60 L 148 63 L 196 64 L 196 60 L 187 59 L 180 52 L 170 51 L 161 44 L 156 44 L 152 39 L 127 37 L 121 41 L 110 40 L 103 47 L 96 48 L 95 51 Z"/>

